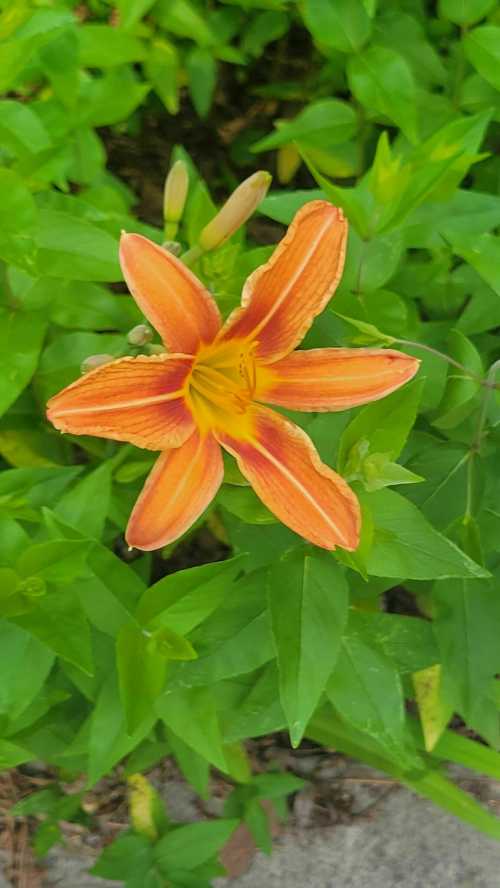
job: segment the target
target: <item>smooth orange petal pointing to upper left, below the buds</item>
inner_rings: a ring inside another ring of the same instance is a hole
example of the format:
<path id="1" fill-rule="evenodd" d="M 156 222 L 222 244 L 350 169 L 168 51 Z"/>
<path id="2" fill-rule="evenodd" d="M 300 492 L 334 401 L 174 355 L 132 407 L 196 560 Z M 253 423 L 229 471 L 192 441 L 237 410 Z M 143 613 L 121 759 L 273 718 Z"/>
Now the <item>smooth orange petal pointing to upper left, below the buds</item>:
<path id="1" fill-rule="evenodd" d="M 172 253 L 140 234 L 123 234 L 120 263 L 137 305 L 170 351 L 192 355 L 213 340 L 220 327 L 217 305 Z"/>

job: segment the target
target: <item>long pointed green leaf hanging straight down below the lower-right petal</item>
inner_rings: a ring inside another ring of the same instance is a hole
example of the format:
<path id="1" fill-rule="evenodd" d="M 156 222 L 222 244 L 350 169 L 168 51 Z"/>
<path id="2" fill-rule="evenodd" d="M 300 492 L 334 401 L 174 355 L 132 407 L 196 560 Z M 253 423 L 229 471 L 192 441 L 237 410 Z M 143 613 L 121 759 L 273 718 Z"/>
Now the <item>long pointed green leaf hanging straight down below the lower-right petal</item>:
<path id="1" fill-rule="evenodd" d="M 347 620 L 348 588 L 331 556 L 294 553 L 269 574 L 269 608 L 280 699 L 298 746 L 335 666 Z"/>

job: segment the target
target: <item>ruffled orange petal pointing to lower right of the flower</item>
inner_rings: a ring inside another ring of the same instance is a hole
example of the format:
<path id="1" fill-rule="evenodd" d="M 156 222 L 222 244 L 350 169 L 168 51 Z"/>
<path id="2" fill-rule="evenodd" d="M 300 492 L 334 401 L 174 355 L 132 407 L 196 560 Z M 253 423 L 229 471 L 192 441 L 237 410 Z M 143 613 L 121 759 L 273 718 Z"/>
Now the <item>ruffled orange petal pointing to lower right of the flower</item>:
<path id="1" fill-rule="evenodd" d="M 356 549 L 359 503 L 340 475 L 321 462 L 298 426 L 266 407 L 250 408 L 253 434 L 218 432 L 262 502 L 288 527 L 324 549 Z"/>

